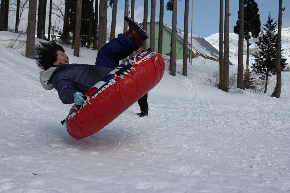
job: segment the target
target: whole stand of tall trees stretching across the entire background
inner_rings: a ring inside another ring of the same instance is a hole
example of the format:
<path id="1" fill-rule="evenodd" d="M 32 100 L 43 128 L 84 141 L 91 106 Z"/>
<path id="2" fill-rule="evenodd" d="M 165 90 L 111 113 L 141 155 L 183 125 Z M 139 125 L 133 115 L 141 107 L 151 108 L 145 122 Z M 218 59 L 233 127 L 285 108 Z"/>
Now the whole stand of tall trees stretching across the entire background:
<path id="1" fill-rule="evenodd" d="M 150 21 L 150 47 L 155 51 L 155 2 L 151 0 L 151 21 Z M 179 0 L 180 1 L 180 0 Z M 172 76 L 176 76 L 176 24 L 177 24 L 177 0 L 166 1 L 166 10 L 172 11 L 172 36 L 171 36 L 171 54 L 170 71 Z M 95 5 L 95 6 L 94 6 Z M 135 0 L 125 0 L 125 5 L 118 4 L 117 0 L 1 0 L 0 4 L 0 31 L 10 31 L 15 33 L 27 34 L 26 57 L 33 58 L 35 46 L 35 32 L 37 38 L 47 41 L 55 41 L 57 33 L 62 43 L 71 45 L 74 48 L 74 55 L 79 55 L 79 47 L 91 49 L 100 49 L 115 37 L 117 6 L 124 6 L 124 16 L 129 15 L 131 8 L 131 17 L 134 19 Z M 48 8 L 48 9 L 47 9 Z M 94 10 L 95 8 L 95 10 Z M 111 29 L 107 28 L 107 9 L 112 8 Z M 23 19 L 23 13 L 28 10 L 28 21 L 25 30 L 19 30 L 19 23 Z M 48 29 L 46 29 L 46 11 L 49 10 Z M 237 25 L 234 27 L 234 33 L 239 34 L 239 56 L 238 56 L 238 77 L 237 87 L 245 89 L 244 85 L 249 86 L 249 82 L 244 82 L 243 68 L 243 38 L 247 41 L 247 68 L 249 70 L 249 39 L 258 37 L 256 42 L 260 50 L 254 54 L 256 60 L 252 70 L 257 73 L 261 79 L 268 79 L 269 76 L 277 75 L 276 89 L 272 96 L 279 97 L 281 87 L 281 69 L 285 66 L 285 58 L 281 56 L 281 25 L 282 25 L 282 0 L 279 0 L 279 21 L 274 22 L 269 14 L 268 21 L 264 24 L 264 32 L 260 33 L 260 15 L 258 14 L 258 4 L 255 0 L 239 0 L 239 11 Z M 8 26 L 8 14 L 15 14 L 15 28 Z M 63 22 L 62 29 L 52 25 L 52 14 L 57 16 Z M 158 34 L 158 52 L 162 53 L 163 38 L 163 16 L 164 0 L 160 0 L 160 21 Z M 218 88 L 229 92 L 229 0 L 220 0 L 220 72 Z M 184 34 L 188 33 L 189 22 L 189 0 L 185 0 L 184 9 Z M 148 0 L 144 0 L 144 29 L 147 30 L 148 20 Z M 183 21 L 182 21 L 183 22 Z M 275 29 L 278 25 L 278 34 Z M 127 24 L 124 22 L 124 32 Z M 280 29 L 280 30 L 279 30 Z M 48 36 L 45 32 L 48 31 Z M 223 36 L 224 34 L 224 36 Z M 269 42 L 271 39 L 271 42 Z M 267 49 L 265 49 L 267 45 Z M 146 48 L 144 41 L 144 50 Z M 187 76 L 187 36 L 184 36 L 183 49 L 183 73 Z M 248 76 L 248 75 L 247 75 Z M 249 80 L 249 78 L 246 78 Z M 265 92 L 267 91 L 267 81 Z"/>

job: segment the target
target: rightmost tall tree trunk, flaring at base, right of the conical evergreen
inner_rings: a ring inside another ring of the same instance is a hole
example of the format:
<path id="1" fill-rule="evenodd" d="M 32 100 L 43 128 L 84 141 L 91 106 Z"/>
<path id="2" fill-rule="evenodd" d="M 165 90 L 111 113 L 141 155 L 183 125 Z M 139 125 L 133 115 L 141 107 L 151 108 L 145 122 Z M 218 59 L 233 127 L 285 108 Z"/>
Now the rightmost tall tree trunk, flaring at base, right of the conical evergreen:
<path id="1" fill-rule="evenodd" d="M 281 78 L 281 26 L 282 26 L 282 0 L 279 0 L 279 16 L 278 16 L 278 41 L 277 41 L 277 56 L 276 56 L 276 87 L 272 94 L 273 97 L 280 98 L 282 78 Z"/>

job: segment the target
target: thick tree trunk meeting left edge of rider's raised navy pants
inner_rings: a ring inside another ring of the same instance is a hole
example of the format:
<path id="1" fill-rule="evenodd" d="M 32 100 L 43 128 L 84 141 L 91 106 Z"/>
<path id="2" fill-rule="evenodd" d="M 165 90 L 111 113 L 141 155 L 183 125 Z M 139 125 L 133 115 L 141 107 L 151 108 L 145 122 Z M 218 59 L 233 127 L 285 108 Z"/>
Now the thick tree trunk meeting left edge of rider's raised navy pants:
<path id="1" fill-rule="evenodd" d="M 100 12 L 99 12 L 99 36 L 98 36 L 98 50 L 100 50 L 107 41 L 107 9 L 108 1 L 100 0 Z"/>

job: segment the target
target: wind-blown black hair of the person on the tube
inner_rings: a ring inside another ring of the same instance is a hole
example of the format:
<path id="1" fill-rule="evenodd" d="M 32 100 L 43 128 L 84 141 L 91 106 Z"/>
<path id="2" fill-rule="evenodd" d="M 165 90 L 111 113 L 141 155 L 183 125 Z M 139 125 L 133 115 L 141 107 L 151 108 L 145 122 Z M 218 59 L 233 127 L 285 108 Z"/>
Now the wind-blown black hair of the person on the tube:
<path id="1" fill-rule="evenodd" d="M 57 50 L 64 52 L 64 48 L 55 42 L 39 42 L 34 52 L 37 66 L 42 70 L 53 67 L 52 63 L 57 60 Z"/>

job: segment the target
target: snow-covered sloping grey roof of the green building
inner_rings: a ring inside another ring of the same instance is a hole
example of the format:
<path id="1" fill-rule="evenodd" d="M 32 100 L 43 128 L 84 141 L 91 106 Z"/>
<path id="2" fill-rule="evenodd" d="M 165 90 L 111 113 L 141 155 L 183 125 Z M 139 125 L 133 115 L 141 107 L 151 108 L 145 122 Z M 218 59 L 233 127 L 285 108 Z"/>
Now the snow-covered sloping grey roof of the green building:
<path id="1" fill-rule="evenodd" d="M 172 33 L 172 26 L 163 23 L 166 30 Z M 215 49 L 208 41 L 200 36 L 188 33 L 187 48 L 190 50 L 192 36 L 192 52 L 219 59 L 219 51 Z M 176 38 L 183 43 L 184 31 L 177 29 Z"/>

